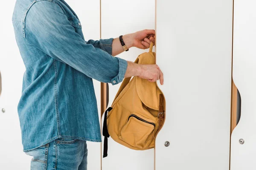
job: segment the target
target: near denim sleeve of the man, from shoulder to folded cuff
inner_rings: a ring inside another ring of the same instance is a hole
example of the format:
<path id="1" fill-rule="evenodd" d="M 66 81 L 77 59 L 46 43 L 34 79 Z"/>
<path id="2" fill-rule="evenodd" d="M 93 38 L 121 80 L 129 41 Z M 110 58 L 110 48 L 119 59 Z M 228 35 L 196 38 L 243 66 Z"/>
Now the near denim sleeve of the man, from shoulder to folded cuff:
<path id="1" fill-rule="evenodd" d="M 88 77 L 112 85 L 124 78 L 127 61 L 109 54 L 112 48 L 108 48 L 108 44 L 112 40 L 85 42 L 58 4 L 35 3 L 26 16 L 25 32 L 29 43 Z M 101 44 L 103 50 L 94 47 L 101 47 Z"/>

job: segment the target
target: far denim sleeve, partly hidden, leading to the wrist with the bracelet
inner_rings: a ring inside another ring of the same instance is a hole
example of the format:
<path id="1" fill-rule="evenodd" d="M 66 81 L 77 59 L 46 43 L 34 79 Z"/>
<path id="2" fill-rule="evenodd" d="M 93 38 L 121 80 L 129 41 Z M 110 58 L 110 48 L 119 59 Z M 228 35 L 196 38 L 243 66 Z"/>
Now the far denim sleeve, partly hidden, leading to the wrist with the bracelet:
<path id="1" fill-rule="evenodd" d="M 87 44 L 93 45 L 95 48 L 100 48 L 106 51 L 108 54 L 112 55 L 112 43 L 113 38 L 110 39 L 100 39 L 100 40 L 89 40 L 86 42 Z"/>

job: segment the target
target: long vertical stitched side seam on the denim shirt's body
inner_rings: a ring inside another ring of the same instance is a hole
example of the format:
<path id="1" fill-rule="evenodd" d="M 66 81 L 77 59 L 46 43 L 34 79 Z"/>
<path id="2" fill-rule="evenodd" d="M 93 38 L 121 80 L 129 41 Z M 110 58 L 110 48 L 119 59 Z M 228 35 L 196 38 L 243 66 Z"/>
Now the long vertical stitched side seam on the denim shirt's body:
<path id="1" fill-rule="evenodd" d="M 59 111 L 58 111 L 58 88 L 57 88 L 57 77 L 58 77 L 58 71 L 55 60 L 53 61 L 54 65 L 54 72 L 55 72 L 55 78 L 54 78 L 54 99 L 55 99 L 55 111 L 56 111 L 56 122 L 57 122 L 57 134 L 61 136 L 61 127 L 60 127 L 60 121 L 59 121 Z"/>

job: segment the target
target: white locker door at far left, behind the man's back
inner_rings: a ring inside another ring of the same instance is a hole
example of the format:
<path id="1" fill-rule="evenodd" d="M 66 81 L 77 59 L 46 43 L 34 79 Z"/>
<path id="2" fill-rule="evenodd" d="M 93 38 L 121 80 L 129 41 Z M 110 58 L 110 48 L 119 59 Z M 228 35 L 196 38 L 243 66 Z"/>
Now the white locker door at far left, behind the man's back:
<path id="1" fill-rule="evenodd" d="M 12 26 L 16 0 L 1 2 L 0 23 L 0 169 L 29 170 L 31 158 L 23 153 L 17 105 L 22 90 L 25 66 L 20 57 Z M 4 113 L 3 113 L 4 111 Z"/>

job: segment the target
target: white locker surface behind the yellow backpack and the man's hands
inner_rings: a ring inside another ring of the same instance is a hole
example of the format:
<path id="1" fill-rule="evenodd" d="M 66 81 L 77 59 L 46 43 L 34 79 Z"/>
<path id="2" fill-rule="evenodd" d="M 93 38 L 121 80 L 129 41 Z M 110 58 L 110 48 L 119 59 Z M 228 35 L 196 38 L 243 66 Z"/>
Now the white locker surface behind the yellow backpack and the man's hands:
<path id="1" fill-rule="evenodd" d="M 115 38 L 143 29 L 154 29 L 155 27 L 154 0 L 101 0 L 101 2 L 103 39 Z M 148 49 L 145 51 L 148 51 Z M 128 52 L 123 52 L 117 57 L 134 61 L 139 54 L 145 51 L 131 48 Z M 109 84 L 108 107 L 111 106 L 120 85 L 121 83 L 114 86 Z M 104 136 L 102 136 L 102 139 L 104 139 Z M 108 157 L 102 158 L 102 170 L 154 170 L 154 149 L 131 150 L 114 142 L 110 137 Z"/>

